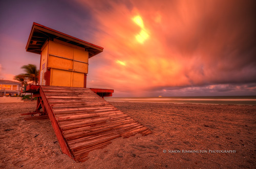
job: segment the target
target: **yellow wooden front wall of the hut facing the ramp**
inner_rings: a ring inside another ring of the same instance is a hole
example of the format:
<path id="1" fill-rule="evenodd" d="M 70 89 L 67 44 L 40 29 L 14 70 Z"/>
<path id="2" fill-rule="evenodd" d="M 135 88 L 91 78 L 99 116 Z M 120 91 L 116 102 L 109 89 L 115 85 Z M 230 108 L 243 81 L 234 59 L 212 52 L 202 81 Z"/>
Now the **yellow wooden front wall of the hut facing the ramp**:
<path id="1" fill-rule="evenodd" d="M 47 45 L 50 86 L 83 87 L 84 73 L 88 73 L 88 51 L 58 40 Z"/>

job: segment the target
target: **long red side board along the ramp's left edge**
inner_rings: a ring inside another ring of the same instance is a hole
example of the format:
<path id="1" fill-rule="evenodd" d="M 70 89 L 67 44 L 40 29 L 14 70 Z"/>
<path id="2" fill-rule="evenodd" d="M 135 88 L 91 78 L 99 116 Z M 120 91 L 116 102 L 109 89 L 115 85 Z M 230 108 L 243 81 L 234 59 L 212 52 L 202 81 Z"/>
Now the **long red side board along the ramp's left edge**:
<path id="1" fill-rule="evenodd" d="M 67 154 L 70 158 L 74 159 L 74 157 L 71 155 L 70 153 L 70 148 L 66 142 L 66 140 L 64 139 L 64 136 L 63 134 L 61 133 L 61 129 L 56 121 L 56 118 L 52 112 L 52 109 L 46 99 L 46 96 L 44 94 L 44 92 L 42 91 L 42 89 L 40 89 L 40 95 L 41 95 L 41 98 L 42 98 L 42 101 L 44 102 L 45 104 L 45 108 L 47 110 L 47 113 L 48 113 L 48 116 L 49 116 L 49 119 L 51 120 L 51 123 L 52 123 L 52 127 L 55 131 L 55 134 L 57 136 L 57 139 L 58 139 L 58 142 L 59 142 L 59 145 L 60 145 L 60 148 L 62 150 L 62 152 L 64 154 Z"/>

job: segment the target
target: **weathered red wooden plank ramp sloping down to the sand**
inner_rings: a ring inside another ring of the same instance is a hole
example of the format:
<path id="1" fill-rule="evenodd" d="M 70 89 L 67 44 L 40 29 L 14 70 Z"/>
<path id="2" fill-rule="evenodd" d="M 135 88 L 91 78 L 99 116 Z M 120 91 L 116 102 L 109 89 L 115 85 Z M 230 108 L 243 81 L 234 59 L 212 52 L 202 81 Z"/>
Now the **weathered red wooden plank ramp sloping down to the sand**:
<path id="1" fill-rule="evenodd" d="M 114 138 L 152 133 L 88 88 L 41 86 L 40 95 L 62 152 L 77 162 Z"/>

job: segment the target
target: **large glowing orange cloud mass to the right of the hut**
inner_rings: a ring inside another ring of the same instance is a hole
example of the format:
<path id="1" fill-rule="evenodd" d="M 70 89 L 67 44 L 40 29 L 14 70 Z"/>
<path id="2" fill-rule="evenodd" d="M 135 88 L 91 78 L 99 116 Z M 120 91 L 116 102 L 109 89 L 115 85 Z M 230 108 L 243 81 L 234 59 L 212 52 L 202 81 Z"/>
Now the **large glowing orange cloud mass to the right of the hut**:
<path id="1" fill-rule="evenodd" d="M 140 95 L 166 87 L 221 92 L 256 82 L 253 1 L 77 3 L 90 9 L 104 47 L 89 61 L 89 86 Z"/>

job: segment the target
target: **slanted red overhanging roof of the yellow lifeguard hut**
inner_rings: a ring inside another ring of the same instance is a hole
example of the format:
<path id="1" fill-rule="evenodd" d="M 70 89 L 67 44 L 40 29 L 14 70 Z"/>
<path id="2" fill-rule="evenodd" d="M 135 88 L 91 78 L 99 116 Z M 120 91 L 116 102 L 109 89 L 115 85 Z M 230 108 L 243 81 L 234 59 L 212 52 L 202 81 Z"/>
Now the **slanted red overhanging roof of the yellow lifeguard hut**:
<path id="1" fill-rule="evenodd" d="M 89 52 L 89 58 L 103 51 L 103 47 L 61 33 L 59 31 L 53 30 L 49 27 L 46 27 L 35 22 L 33 22 L 32 25 L 29 40 L 26 46 L 26 51 L 40 54 L 42 45 L 44 45 L 45 42 L 49 39 L 58 39 L 70 43 L 72 45 L 83 47 L 86 51 Z"/>

